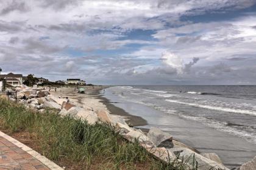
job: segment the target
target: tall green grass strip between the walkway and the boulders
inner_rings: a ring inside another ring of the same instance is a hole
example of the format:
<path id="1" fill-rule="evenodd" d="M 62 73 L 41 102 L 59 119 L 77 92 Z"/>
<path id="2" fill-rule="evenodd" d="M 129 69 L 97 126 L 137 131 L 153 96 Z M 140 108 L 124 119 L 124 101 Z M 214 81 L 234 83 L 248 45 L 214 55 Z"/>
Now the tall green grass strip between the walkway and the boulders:
<path id="1" fill-rule="evenodd" d="M 110 124 L 90 125 L 60 117 L 57 110 L 39 113 L 0 98 L 0 120 L 2 129 L 11 133 L 33 134 L 39 152 L 67 169 L 189 169 L 185 161 L 155 160 L 138 142 L 124 140 Z"/>

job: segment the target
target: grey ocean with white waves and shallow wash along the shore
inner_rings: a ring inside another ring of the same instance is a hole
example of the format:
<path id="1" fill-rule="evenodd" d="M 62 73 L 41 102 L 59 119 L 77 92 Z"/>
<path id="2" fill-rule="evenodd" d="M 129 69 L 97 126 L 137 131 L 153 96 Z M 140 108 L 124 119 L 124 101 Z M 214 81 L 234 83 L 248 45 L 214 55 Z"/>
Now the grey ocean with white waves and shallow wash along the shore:
<path id="1" fill-rule="evenodd" d="M 174 138 L 176 135 L 199 151 L 218 152 L 228 165 L 256 155 L 256 86 L 115 86 L 106 89 L 104 96 L 130 114 L 146 119 L 146 128 L 155 126 L 171 132 Z M 198 132 L 204 135 L 195 137 Z M 212 144 L 211 140 L 204 141 L 212 134 Z M 218 146 L 221 142 L 232 146 Z M 243 144 L 247 148 L 240 146 Z M 249 154 L 232 160 L 233 156 L 224 151 L 233 148 Z"/>

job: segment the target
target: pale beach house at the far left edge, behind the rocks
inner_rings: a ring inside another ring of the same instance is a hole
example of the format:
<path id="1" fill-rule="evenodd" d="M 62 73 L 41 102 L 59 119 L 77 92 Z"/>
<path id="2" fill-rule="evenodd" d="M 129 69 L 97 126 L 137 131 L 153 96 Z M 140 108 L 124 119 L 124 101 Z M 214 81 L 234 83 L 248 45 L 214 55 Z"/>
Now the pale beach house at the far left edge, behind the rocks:
<path id="1" fill-rule="evenodd" d="M 7 75 L 0 75 L 0 78 L 4 79 L 7 84 L 13 87 L 21 86 L 23 84 L 22 74 L 9 73 Z"/>

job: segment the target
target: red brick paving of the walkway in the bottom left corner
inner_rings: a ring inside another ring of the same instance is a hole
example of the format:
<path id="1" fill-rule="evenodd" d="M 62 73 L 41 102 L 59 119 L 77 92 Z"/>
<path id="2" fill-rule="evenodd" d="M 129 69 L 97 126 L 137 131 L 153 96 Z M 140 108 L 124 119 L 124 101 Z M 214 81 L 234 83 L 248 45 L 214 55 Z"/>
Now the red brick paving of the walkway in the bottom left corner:
<path id="1" fill-rule="evenodd" d="M 41 161 L 32 157 L 3 137 L 0 137 L 0 170 L 49 170 Z"/>

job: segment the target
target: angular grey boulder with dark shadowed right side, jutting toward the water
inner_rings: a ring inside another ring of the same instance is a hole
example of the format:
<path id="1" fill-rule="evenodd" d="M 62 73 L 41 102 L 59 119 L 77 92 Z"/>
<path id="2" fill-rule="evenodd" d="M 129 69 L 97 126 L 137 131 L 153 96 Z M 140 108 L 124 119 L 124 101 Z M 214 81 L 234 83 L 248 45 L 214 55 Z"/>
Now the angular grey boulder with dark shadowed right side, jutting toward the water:
<path id="1" fill-rule="evenodd" d="M 148 132 L 148 137 L 157 147 L 173 148 L 172 136 L 160 129 L 152 127 Z"/>

